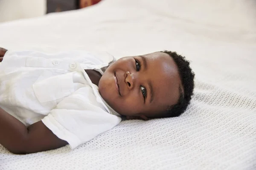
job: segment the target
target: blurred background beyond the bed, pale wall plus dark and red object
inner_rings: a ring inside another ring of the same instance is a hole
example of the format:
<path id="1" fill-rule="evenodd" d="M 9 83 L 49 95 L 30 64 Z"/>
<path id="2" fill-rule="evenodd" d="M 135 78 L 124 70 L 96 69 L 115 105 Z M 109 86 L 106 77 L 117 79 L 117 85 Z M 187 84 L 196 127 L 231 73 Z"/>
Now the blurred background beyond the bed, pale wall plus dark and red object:
<path id="1" fill-rule="evenodd" d="M 99 1 L 101 0 L 0 0 L 0 22 L 85 8 Z"/>

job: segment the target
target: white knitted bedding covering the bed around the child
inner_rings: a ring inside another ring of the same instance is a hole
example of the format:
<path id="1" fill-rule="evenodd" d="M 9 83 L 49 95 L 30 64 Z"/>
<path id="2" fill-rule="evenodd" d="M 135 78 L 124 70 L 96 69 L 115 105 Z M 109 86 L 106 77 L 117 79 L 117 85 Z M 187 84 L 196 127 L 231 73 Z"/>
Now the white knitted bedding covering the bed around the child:
<path id="1" fill-rule="evenodd" d="M 182 116 L 124 121 L 73 151 L 0 146 L 0 170 L 255 170 L 255 9 L 255 0 L 103 0 L 1 24 L 7 49 L 177 51 L 192 61 L 196 88 Z"/>

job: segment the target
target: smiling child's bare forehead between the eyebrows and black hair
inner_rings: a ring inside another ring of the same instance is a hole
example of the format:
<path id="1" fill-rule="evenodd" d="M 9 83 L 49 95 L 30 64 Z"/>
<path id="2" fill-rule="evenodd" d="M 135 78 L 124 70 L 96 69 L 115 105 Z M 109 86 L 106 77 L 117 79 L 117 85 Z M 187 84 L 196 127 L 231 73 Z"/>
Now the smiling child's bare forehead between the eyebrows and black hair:
<path id="1" fill-rule="evenodd" d="M 179 99 L 181 84 L 177 65 L 169 54 L 156 52 L 144 55 L 148 62 L 148 74 L 152 81 L 154 101 L 151 109 L 159 111 L 167 105 L 175 105 Z"/>

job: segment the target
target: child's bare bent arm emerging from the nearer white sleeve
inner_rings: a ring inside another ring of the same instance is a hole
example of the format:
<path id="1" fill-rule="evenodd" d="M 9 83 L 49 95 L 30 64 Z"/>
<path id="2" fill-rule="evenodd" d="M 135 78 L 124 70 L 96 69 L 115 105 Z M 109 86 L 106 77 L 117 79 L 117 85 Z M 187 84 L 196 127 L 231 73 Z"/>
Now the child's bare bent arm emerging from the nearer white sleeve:
<path id="1" fill-rule="evenodd" d="M 59 139 L 42 121 L 26 127 L 18 119 L 0 108 L 0 144 L 15 154 L 26 154 L 63 147 Z"/>

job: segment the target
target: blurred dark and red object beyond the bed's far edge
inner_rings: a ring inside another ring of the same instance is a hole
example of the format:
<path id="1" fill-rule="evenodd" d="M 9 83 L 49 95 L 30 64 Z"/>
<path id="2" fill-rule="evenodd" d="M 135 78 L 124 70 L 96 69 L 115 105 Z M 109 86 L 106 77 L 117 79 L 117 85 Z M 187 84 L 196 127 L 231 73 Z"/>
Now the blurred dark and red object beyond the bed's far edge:
<path id="1" fill-rule="evenodd" d="M 101 0 L 47 0 L 47 14 L 50 12 L 70 11 L 99 3 Z"/>

